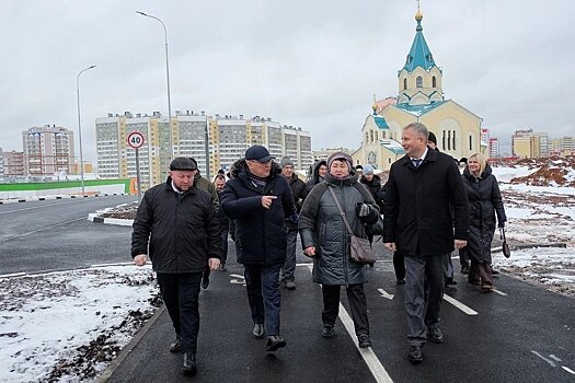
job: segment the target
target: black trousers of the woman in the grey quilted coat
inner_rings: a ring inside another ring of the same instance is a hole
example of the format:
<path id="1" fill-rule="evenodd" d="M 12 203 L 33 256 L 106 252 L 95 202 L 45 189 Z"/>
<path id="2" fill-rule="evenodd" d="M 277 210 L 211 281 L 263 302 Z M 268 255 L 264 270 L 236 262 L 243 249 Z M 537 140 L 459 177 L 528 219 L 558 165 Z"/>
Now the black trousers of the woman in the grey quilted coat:
<path id="1" fill-rule="evenodd" d="M 324 324 L 333 325 L 340 314 L 340 293 L 341 286 L 322 285 L 323 311 L 321 314 Z M 352 318 L 356 335 L 369 335 L 369 320 L 367 317 L 367 299 L 364 291 L 364 285 L 348 285 L 346 288 L 347 301 L 352 310 Z"/>

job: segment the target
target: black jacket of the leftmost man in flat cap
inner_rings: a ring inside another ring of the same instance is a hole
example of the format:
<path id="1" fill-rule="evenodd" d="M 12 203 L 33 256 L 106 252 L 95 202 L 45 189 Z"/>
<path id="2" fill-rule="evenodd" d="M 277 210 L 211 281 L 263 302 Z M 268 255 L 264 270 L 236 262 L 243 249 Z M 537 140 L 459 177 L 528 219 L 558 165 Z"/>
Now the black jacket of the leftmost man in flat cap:
<path id="1" fill-rule="evenodd" d="M 157 272 L 200 272 L 221 258 L 219 223 L 210 195 L 179 194 L 172 178 L 143 194 L 131 234 L 131 257 L 148 254 Z"/>

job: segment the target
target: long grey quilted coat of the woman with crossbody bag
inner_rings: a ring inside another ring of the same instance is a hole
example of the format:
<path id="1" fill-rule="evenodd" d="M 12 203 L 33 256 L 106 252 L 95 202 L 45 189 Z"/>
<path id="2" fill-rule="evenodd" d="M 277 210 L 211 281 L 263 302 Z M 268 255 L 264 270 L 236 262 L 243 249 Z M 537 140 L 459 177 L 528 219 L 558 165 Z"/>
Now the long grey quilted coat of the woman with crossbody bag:
<path id="1" fill-rule="evenodd" d="M 364 223 L 375 223 L 379 214 L 373 197 L 357 182 L 357 175 L 344 179 L 325 175 L 325 182 L 318 184 L 303 201 L 299 216 L 302 247 L 315 247 L 313 281 L 331 286 L 365 283 L 364 266 L 349 259 L 349 235 L 329 187 L 335 192 L 355 235 L 367 237 Z M 371 212 L 360 219 L 356 206 L 364 202 L 371 206 Z"/>

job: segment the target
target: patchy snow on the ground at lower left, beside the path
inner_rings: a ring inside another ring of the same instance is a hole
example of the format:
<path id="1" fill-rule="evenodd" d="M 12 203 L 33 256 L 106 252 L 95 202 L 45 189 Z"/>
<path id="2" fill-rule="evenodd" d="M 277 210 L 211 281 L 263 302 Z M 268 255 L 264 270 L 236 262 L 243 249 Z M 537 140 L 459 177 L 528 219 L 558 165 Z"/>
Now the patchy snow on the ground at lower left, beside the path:
<path id="1" fill-rule="evenodd" d="M 151 267 L 0 279 L 0 382 L 93 380 L 160 305 Z"/>

